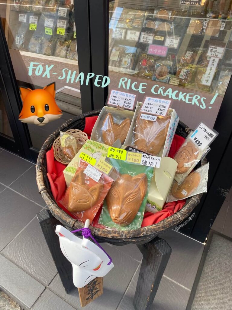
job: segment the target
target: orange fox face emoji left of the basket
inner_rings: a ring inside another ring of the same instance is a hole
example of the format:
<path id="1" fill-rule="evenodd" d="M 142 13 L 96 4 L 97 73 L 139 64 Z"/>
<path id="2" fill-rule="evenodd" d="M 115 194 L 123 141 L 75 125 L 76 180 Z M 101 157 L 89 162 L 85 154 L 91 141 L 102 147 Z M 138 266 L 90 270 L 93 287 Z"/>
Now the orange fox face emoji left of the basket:
<path id="1" fill-rule="evenodd" d="M 62 116 L 62 111 L 55 102 L 55 82 L 43 89 L 31 90 L 19 87 L 23 108 L 19 121 L 44 126 Z"/>

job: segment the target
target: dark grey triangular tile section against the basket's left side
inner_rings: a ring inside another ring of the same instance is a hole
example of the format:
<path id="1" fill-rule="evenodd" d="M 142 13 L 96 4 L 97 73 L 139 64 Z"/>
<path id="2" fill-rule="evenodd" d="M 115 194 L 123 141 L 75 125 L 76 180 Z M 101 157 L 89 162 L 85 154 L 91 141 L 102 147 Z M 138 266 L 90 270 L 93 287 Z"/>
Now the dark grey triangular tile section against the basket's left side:
<path id="1" fill-rule="evenodd" d="M 16 192 L 24 195 L 32 201 L 35 201 L 42 207 L 46 205 L 42 196 L 39 194 L 38 186 L 36 183 L 36 168 L 32 166 L 28 171 L 15 180 L 10 188 L 13 188 Z"/>

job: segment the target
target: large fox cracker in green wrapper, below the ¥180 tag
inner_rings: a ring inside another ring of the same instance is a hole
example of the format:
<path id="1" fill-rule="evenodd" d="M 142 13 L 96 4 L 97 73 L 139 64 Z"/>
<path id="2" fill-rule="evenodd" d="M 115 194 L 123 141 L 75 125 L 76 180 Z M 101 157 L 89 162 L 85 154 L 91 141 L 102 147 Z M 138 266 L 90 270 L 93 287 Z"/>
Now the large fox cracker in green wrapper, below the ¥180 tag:
<path id="1" fill-rule="evenodd" d="M 110 158 L 118 170 L 103 204 L 98 224 L 112 229 L 133 230 L 141 227 L 153 168 Z"/>

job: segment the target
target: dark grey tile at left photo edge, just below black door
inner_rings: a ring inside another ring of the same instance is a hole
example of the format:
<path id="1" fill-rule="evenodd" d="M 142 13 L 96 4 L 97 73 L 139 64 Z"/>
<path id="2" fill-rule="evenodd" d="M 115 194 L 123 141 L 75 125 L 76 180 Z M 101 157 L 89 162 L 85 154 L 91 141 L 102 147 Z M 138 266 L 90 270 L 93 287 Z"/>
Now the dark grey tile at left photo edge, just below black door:
<path id="1" fill-rule="evenodd" d="M 11 184 L 31 166 L 31 162 L 3 150 L 0 153 L 0 182 Z"/>

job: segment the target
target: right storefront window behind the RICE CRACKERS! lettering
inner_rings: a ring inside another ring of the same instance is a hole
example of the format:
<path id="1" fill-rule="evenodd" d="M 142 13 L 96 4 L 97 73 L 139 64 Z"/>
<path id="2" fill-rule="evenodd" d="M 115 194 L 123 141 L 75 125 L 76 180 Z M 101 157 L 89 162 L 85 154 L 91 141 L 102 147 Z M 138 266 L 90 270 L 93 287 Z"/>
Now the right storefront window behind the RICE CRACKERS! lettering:
<path id="1" fill-rule="evenodd" d="M 230 15 L 212 3 L 206 11 L 199 0 L 110 2 L 111 87 L 138 101 L 165 97 L 189 127 L 213 126 L 232 73 L 232 41 Z"/>

